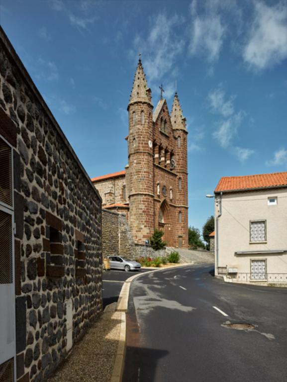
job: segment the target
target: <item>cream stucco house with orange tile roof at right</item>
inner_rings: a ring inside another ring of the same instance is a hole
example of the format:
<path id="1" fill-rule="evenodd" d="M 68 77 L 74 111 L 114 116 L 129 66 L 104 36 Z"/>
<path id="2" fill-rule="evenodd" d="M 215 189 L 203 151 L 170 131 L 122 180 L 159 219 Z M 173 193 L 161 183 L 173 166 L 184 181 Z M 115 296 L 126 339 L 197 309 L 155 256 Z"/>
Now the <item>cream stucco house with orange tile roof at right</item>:
<path id="1" fill-rule="evenodd" d="M 214 195 L 215 275 L 287 283 L 287 172 L 224 177 Z"/>

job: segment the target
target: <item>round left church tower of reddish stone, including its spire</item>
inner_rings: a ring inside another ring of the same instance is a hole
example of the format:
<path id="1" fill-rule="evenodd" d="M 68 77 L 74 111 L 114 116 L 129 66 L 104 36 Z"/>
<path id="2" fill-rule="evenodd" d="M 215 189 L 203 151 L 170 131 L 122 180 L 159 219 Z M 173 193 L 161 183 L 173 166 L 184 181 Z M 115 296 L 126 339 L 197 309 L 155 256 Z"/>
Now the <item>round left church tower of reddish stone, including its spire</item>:
<path id="1" fill-rule="evenodd" d="M 135 243 L 144 244 L 154 231 L 153 104 L 140 59 L 127 110 L 129 225 Z"/>

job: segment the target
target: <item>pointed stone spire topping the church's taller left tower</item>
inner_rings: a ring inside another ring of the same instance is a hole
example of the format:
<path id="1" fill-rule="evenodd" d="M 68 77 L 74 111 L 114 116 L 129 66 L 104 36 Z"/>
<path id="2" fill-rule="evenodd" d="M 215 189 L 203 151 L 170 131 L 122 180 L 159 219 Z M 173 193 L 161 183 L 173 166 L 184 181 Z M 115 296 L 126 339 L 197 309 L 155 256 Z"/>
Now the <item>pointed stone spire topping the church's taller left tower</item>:
<path id="1" fill-rule="evenodd" d="M 129 97 L 129 105 L 134 102 L 147 102 L 152 104 L 151 98 L 151 90 L 148 88 L 141 59 L 139 59 Z"/>

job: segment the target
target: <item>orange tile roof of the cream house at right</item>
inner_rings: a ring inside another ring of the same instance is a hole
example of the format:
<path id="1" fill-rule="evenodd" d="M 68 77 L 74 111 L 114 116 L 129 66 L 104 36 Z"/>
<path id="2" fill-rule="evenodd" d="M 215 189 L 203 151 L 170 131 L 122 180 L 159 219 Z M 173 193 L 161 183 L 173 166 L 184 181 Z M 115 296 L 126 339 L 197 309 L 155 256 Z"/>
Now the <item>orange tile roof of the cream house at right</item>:
<path id="1" fill-rule="evenodd" d="M 214 192 L 287 187 L 287 172 L 248 175 L 245 177 L 223 177 Z"/>

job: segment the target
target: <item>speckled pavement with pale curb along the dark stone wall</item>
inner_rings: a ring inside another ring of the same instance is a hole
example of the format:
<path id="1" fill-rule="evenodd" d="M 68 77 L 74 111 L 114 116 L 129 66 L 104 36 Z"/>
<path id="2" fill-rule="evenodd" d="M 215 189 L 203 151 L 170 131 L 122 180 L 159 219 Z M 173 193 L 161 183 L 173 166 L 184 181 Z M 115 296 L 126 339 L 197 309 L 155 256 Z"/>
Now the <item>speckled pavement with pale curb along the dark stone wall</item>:
<path id="1" fill-rule="evenodd" d="M 125 313 L 108 305 L 48 382 L 120 381 L 125 350 Z M 121 354 L 122 353 L 122 354 Z M 115 371 L 114 371 L 115 369 Z"/>

